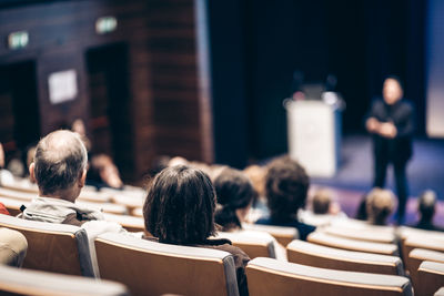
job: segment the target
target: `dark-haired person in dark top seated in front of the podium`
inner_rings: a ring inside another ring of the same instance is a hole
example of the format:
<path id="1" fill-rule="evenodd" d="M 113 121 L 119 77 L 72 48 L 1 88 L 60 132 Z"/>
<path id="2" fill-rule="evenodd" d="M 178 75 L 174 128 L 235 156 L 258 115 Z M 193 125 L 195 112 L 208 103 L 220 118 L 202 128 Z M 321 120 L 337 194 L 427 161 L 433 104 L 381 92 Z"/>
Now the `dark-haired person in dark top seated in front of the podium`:
<path id="1" fill-rule="evenodd" d="M 294 227 L 306 241 L 315 227 L 297 220 L 297 210 L 304 207 L 310 186 L 305 170 L 289 156 L 272 161 L 265 176 L 265 195 L 270 217 L 256 224 Z"/>

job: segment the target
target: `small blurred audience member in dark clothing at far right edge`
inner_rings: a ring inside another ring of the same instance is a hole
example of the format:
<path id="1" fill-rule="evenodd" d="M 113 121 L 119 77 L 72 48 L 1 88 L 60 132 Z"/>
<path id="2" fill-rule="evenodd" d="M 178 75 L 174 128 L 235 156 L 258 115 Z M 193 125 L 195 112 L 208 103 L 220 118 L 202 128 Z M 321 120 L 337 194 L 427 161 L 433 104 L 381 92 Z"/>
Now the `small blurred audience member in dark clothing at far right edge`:
<path id="1" fill-rule="evenodd" d="M 417 210 L 421 215 L 420 222 L 414 226 L 420 229 L 443 232 L 443 227 L 433 224 L 433 216 L 436 211 L 436 193 L 427 190 L 420 195 Z"/>

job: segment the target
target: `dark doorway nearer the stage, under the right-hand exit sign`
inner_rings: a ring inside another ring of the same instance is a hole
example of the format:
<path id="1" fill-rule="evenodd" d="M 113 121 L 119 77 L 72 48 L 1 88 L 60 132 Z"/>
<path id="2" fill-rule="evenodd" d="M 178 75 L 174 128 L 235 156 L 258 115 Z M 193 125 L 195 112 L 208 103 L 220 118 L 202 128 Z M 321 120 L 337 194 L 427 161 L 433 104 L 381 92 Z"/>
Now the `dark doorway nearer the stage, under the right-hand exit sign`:
<path id="1" fill-rule="evenodd" d="M 92 152 L 112 156 L 128 181 L 133 172 L 128 44 L 92 48 L 85 55 Z"/>

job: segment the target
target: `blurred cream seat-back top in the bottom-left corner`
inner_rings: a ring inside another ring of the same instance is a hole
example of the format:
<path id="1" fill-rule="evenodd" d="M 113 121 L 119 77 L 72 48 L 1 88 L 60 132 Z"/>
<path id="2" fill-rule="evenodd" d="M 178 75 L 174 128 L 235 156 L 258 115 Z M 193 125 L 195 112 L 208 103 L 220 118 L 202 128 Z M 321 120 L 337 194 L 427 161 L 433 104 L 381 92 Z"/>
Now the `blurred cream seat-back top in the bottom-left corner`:
<path id="1" fill-rule="evenodd" d="M 110 280 L 0 266 L 1 295 L 123 296 L 127 288 Z"/>

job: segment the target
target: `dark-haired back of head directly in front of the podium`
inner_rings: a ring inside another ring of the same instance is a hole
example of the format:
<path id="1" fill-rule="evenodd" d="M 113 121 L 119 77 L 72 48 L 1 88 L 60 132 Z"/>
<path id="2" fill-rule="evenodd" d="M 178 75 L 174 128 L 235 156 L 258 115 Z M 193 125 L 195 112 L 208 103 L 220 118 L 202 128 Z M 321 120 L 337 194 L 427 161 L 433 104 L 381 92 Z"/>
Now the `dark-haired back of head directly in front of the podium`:
<path id="1" fill-rule="evenodd" d="M 265 194 L 272 217 L 289 218 L 305 205 L 310 178 L 305 170 L 289 156 L 269 164 Z"/>

